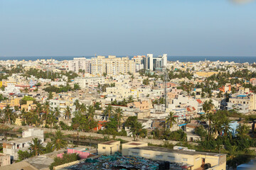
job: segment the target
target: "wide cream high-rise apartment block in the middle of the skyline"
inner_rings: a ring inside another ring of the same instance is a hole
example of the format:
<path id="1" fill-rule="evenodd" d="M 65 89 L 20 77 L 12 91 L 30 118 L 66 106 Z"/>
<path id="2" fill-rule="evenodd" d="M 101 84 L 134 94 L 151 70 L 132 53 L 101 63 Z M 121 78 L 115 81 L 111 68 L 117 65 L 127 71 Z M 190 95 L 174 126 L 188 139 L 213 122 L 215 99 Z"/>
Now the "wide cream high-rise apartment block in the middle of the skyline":
<path id="1" fill-rule="evenodd" d="M 135 73 L 135 62 L 129 57 L 116 57 L 114 55 L 97 56 L 92 58 L 92 74 L 127 74 Z"/>

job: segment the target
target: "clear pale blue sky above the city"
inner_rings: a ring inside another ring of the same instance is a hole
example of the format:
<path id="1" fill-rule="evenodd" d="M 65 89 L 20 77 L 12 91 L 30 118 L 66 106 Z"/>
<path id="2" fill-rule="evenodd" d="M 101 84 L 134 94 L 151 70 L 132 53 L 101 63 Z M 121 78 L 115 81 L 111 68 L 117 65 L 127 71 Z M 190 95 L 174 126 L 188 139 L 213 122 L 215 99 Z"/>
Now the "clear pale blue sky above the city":
<path id="1" fill-rule="evenodd" d="M 0 0 L 1 56 L 256 56 L 256 1 Z"/>

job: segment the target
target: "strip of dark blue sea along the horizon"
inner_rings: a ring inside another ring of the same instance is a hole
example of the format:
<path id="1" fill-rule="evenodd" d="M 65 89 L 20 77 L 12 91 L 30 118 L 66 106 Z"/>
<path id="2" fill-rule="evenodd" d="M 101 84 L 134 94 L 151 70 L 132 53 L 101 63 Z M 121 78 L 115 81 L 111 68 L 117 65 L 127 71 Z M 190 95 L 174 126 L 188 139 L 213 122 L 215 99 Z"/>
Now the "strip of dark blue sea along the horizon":
<path id="1" fill-rule="evenodd" d="M 63 60 L 73 60 L 74 57 L 86 57 L 91 58 L 94 56 L 23 56 L 23 57 L 2 57 L 0 56 L 0 60 L 49 60 L 54 59 L 58 61 Z M 124 57 L 124 56 L 117 56 L 117 57 Z M 129 56 L 129 58 L 132 58 L 133 56 Z M 168 61 L 172 62 L 199 62 L 204 60 L 210 60 L 210 62 L 220 61 L 220 62 L 238 62 L 238 63 L 244 63 L 249 62 L 250 64 L 256 62 L 256 57 L 221 57 L 221 56 L 168 56 Z"/>

